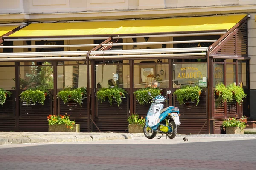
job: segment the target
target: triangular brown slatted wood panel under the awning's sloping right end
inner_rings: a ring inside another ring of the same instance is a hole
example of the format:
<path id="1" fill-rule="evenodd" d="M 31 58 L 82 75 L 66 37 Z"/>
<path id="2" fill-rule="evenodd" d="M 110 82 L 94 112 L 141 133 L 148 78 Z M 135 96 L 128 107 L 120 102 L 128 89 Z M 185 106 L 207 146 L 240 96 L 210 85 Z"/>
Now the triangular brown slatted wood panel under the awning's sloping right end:
<path id="1" fill-rule="evenodd" d="M 236 45 L 235 45 L 235 35 L 230 37 L 228 40 L 216 53 L 216 55 L 236 55 Z"/>

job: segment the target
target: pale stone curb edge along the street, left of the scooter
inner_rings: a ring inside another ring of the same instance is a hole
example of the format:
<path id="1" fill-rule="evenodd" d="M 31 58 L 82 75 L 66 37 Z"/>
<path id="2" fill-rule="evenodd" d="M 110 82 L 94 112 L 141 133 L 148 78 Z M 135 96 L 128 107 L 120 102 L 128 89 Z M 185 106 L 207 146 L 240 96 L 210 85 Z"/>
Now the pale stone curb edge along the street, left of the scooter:
<path id="1" fill-rule="evenodd" d="M 114 140 L 114 139 L 132 139 L 133 136 L 129 133 L 123 134 L 108 134 L 108 135 L 61 135 L 58 137 L 52 136 L 33 136 L 33 137 L 17 137 L 17 138 L 0 138 L 0 145 L 3 144 L 23 144 L 23 143 L 57 143 L 57 142 L 88 142 L 99 140 Z"/>

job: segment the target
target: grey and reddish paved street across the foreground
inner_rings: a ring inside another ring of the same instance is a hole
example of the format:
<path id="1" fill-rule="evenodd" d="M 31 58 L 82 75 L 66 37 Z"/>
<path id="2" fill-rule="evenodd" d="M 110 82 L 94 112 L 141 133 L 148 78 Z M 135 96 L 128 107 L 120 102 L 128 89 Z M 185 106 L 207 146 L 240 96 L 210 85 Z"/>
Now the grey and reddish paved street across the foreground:
<path id="1" fill-rule="evenodd" d="M 255 170 L 256 136 L 6 144 L 0 170 Z"/>

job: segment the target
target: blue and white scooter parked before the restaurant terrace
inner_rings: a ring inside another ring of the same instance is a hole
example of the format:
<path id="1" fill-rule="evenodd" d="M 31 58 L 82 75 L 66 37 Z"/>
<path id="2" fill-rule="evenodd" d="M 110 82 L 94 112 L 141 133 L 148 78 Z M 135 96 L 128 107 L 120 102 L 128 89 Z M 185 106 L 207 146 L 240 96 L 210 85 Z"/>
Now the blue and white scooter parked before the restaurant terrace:
<path id="1" fill-rule="evenodd" d="M 170 93 L 171 91 L 167 91 L 166 96 Z M 151 96 L 150 92 L 148 92 L 148 94 Z M 153 139 L 157 133 L 162 133 L 162 136 L 166 134 L 170 139 L 175 138 L 177 134 L 177 128 L 181 124 L 179 108 L 174 106 L 163 108 L 163 104 L 160 102 L 169 100 L 166 99 L 166 96 L 158 95 L 155 98 L 151 96 L 152 104 L 148 110 L 146 124 L 143 128 L 144 135 L 148 139 Z"/>

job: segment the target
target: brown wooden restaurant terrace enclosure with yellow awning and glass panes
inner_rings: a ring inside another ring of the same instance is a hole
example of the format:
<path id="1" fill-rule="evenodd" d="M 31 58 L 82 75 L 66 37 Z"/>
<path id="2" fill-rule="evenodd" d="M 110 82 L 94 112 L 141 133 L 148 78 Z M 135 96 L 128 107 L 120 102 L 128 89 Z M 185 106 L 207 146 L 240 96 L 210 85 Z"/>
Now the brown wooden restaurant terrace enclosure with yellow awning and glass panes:
<path id="1" fill-rule="evenodd" d="M 31 23 L 0 36 L 0 88 L 12 92 L 0 105 L 1 131 L 48 131 L 47 116 L 65 113 L 81 124 L 81 132 L 125 131 L 130 114 L 146 116 L 149 105 L 139 105 L 134 91 L 145 87 L 149 74 L 163 94 L 172 90 L 165 105 L 180 108 L 178 133 L 218 134 L 225 118 L 250 116 L 247 99 L 239 106 L 214 93 L 219 82 L 242 82 L 250 95 L 247 15 Z M 23 80 L 43 67 L 53 70 L 53 88 L 44 105 L 26 105 L 19 99 Z M 119 106 L 96 97 L 111 79 L 128 92 Z M 203 89 L 197 106 L 179 105 L 173 96 L 189 84 Z M 87 87 L 81 106 L 56 97 L 67 86 Z"/>

